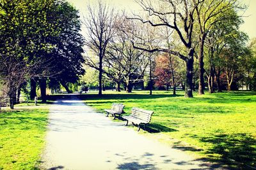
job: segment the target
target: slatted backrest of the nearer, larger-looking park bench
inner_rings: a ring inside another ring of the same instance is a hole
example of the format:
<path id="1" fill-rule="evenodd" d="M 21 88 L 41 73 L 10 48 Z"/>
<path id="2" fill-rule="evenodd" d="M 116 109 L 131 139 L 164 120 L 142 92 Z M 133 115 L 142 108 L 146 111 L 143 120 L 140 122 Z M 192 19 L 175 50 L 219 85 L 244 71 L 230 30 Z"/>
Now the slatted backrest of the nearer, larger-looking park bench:
<path id="1" fill-rule="evenodd" d="M 154 111 L 143 110 L 140 108 L 132 108 L 131 116 L 143 120 L 145 123 L 149 123 Z"/>

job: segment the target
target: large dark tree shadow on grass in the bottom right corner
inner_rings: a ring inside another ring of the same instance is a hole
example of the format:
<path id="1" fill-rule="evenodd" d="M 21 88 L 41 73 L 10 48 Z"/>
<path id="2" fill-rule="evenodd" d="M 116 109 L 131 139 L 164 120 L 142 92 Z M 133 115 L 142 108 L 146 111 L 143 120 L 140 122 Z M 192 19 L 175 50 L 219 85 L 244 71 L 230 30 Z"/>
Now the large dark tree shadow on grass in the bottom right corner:
<path id="1" fill-rule="evenodd" d="M 191 138 L 199 138 L 191 136 Z M 205 153 L 206 157 L 196 159 L 212 169 L 256 169 L 256 139 L 248 134 L 218 134 L 207 138 L 199 138 L 204 143 L 211 143 L 212 148 L 202 150 L 193 146 L 174 143 L 173 148 L 183 151 Z M 220 155 L 220 159 L 216 155 Z M 211 164 L 209 164 L 211 162 Z"/>

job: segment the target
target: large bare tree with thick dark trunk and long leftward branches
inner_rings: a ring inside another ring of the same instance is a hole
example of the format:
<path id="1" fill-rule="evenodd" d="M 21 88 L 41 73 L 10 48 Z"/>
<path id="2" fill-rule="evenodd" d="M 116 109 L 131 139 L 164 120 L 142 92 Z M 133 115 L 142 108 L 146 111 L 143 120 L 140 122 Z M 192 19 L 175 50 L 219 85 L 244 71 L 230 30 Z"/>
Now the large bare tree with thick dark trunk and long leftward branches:
<path id="1" fill-rule="evenodd" d="M 195 49 L 193 46 L 193 27 L 194 15 L 198 3 L 187 0 L 169 0 L 169 1 L 136 1 L 141 8 L 149 15 L 145 20 L 140 15 L 127 17 L 132 20 L 140 20 L 143 24 L 150 24 L 152 27 L 169 27 L 179 36 L 180 42 L 184 46 L 184 52 L 168 48 L 154 48 L 148 50 L 145 47 L 134 45 L 134 48 L 145 50 L 147 52 L 166 52 L 180 57 L 186 62 L 186 91 L 185 97 L 193 97 L 193 62 Z M 154 3 L 155 2 L 155 3 Z M 158 7 L 157 7 L 158 5 Z"/>

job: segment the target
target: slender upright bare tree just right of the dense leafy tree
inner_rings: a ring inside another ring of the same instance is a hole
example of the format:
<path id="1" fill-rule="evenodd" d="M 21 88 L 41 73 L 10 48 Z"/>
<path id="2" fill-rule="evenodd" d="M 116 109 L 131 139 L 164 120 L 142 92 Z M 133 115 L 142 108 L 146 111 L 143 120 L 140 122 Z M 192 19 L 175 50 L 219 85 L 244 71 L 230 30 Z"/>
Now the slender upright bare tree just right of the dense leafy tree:
<path id="1" fill-rule="evenodd" d="M 84 25 L 88 30 L 86 45 L 99 57 L 93 60 L 86 56 L 86 64 L 99 70 L 99 95 L 102 95 L 103 59 L 109 40 L 114 36 L 116 15 L 113 8 L 99 1 L 97 7 L 88 6 L 88 16 L 84 18 Z"/>

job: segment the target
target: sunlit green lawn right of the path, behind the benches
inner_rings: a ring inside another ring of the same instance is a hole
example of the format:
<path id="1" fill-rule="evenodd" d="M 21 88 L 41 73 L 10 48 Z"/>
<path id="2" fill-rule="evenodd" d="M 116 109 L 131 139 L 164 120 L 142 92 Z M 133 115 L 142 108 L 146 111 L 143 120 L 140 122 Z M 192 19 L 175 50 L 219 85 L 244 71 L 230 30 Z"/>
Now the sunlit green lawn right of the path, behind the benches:
<path id="1" fill-rule="evenodd" d="M 105 92 L 104 96 L 84 94 L 81 99 L 99 111 L 112 103 L 124 103 L 125 112 L 132 107 L 153 110 L 147 131 L 180 150 L 195 153 L 229 167 L 249 168 L 256 164 L 256 93 L 223 92 L 184 98 L 184 92 L 147 91 Z"/>

